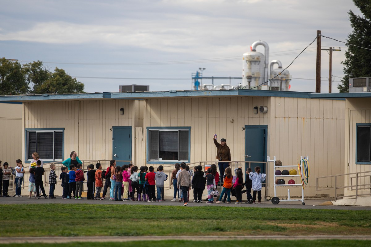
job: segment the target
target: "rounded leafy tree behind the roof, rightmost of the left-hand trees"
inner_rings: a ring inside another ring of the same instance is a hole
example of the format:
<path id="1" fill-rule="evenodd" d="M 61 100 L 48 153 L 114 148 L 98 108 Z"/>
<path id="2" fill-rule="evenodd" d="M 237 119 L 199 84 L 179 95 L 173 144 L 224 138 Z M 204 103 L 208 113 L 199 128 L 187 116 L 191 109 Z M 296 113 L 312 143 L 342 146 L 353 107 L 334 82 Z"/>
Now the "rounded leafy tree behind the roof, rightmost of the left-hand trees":
<path id="1" fill-rule="evenodd" d="M 36 85 L 36 84 L 35 84 Z M 34 93 L 84 93 L 84 84 L 72 78 L 63 69 L 55 68 L 54 73 L 43 83 L 37 84 Z"/>

